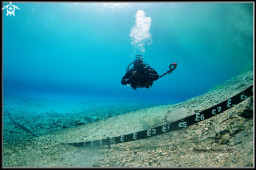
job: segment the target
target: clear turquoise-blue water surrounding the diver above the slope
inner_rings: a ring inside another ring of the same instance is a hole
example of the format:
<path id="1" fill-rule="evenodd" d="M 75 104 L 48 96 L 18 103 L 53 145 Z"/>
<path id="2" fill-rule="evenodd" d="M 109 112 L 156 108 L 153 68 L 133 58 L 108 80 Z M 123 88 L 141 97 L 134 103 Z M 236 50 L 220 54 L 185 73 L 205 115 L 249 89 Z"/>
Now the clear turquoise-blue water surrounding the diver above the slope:
<path id="1" fill-rule="evenodd" d="M 15 16 L 2 11 L 4 102 L 174 104 L 253 65 L 252 3 L 13 5 Z M 132 90 L 120 81 L 136 55 L 159 75 L 177 68 Z"/>

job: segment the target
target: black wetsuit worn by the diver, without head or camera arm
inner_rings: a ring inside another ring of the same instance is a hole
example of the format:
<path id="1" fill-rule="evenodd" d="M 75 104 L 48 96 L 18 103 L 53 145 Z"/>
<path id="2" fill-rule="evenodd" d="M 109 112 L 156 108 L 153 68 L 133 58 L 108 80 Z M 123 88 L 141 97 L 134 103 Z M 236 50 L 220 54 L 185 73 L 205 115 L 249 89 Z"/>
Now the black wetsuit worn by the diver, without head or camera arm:
<path id="1" fill-rule="evenodd" d="M 154 75 L 150 75 L 154 74 Z M 127 81 L 129 80 L 131 75 L 134 75 L 131 82 Z M 147 67 L 144 65 L 144 67 L 141 70 L 136 70 L 135 68 L 131 68 L 128 72 L 126 72 L 125 76 L 121 80 L 121 84 L 127 85 L 130 83 L 132 89 L 139 88 L 150 88 L 153 84 L 153 81 L 158 80 L 159 76 L 157 71 Z"/>

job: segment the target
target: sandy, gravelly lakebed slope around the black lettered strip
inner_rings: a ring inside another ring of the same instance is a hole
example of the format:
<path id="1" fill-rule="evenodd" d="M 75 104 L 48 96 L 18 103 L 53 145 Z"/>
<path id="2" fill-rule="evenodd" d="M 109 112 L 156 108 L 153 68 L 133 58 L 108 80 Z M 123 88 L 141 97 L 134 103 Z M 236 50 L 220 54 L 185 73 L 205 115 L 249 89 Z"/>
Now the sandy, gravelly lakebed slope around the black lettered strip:
<path id="1" fill-rule="evenodd" d="M 125 135 L 164 123 L 165 115 L 179 108 L 199 112 L 224 101 L 249 87 L 253 82 L 253 71 L 237 76 L 206 94 L 188 99 L 175 105 L 161 105 L 142 108 L 118 115 L 110 112 L 109 105 L 96 111 L 109 111 L 107 119 L 93 119 L 81 116 L 82 108 L 73 124 L 63 128 L 65 120 L 58 113 L 40 114 L 19 118 L 17 105 L 6 105 L 4 110 L 4 167 L 241 167 L 253 166 L 253 118 L 244 118 L 241 113 L 248 107 L 248 99 L 199 124 L 164 135 L 112 145 L 112 149 L 77 148 L 61 142 L 80 142 Z M 23 129 L 15 128 L 8 118 L 6 109 L 14 119 L 23 120 L 24 125 L 35 130 L 37 138 Z M 96 112 L 95 111 L 95 112 Z M 76 111 L 73 112 L 75 114 Z M 16 113 L 16 114 L 15 114 Z M 110 116 L 109 116 L 110 115 Z M 104 118 L 106 118 L 104 117 Z M 65 119 L 71 120 L 69 115 Z M 24 121 L 25 120 L 25 121 Z M 47 121 L 46 121 L 47 120 Z M 93 122 L 95 120 L 95 122 Z M 98 121 L 96 121 L 98 120 Z M 70 122 L 72 122 L 70 121 Z M 75 122 L 75 123 L 74 123 Z M 86 123 L 75 126 L 77 123 Z M 91 123 L 88 123 L 91 122 Z M 55 124 L 54 124 L 55 123 Z M 40 124 L 40 126 L 38 126 Z M 59 125 L 59 126 L 57 126 Z M 49 128 L 51 127 L 51 128 Z M 51 129 L 54 130 L 51 131 Z M 49 129 L 47 129 L 49 128 Z M 224 129 L 239 129 L 235 135 L 225 133 Z M 216 134 L 219 135 L 216 138 Z M 233 152 L 193 152 L 201 149 L 232 149 Z"/>

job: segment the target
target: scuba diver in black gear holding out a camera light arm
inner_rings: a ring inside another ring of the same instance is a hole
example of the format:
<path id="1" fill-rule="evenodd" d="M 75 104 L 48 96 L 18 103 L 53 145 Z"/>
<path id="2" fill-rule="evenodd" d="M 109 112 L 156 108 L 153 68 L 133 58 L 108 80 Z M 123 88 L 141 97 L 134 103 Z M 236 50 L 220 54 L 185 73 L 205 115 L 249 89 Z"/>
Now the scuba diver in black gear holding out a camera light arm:
<path id="1" fill-rule="evenodd" d="M 176 69 L 177 64 L 173 63 L 169 66 L 170 70 L 165 72 L 162 76 Z M 153 81 L 158 80 L 159 76 L 157 71 L 151 68 L 146 62 L 143 62 L 143 57 L 141 55 L 136 55 L 136 59 L 126 68 L 126 74 L 121 79 L 121 84 L 130 84 L 132 89 L 137 90 L 137 88 L 150 88 Z"/>

